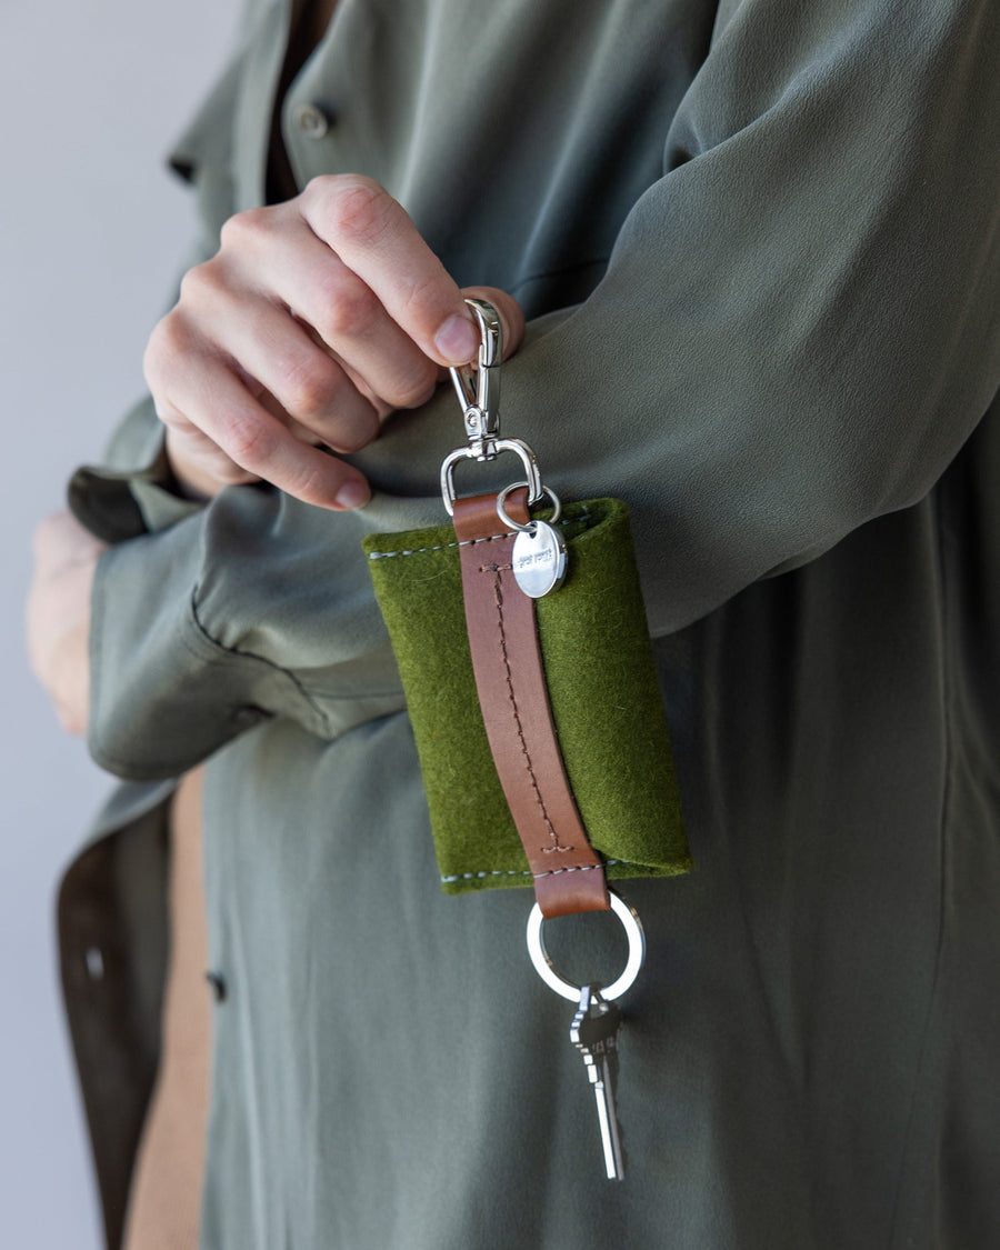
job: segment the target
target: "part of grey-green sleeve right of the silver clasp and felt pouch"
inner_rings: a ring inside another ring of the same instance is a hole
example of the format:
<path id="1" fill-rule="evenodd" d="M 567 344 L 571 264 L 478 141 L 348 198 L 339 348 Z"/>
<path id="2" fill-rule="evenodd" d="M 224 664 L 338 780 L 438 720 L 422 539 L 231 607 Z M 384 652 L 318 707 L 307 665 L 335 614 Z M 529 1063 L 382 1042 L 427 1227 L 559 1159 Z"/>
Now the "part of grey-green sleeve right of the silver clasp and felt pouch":
<path id="1" fill-rule="evenodd" d="M 654 632 L 920 500 L 1000 385 L 1000 8 L 734 8 L 604 281 L 505 366 L 552 484 L 632 506 Z"/>

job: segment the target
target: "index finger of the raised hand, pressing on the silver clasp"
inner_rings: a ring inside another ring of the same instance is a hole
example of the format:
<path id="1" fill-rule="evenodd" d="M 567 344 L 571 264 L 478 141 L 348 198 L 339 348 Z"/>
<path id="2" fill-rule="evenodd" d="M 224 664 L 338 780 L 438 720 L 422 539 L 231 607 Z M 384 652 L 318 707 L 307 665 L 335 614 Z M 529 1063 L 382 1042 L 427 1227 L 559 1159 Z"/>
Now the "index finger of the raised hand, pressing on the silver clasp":
<path id="1" fill-rule="evenodd" d="M 314 234 L 425 355 L 440 365 L 472 359 L 479 332 L 459 288 L 384 188 L 335 175 L 314 179 L 299 199 Z"/>

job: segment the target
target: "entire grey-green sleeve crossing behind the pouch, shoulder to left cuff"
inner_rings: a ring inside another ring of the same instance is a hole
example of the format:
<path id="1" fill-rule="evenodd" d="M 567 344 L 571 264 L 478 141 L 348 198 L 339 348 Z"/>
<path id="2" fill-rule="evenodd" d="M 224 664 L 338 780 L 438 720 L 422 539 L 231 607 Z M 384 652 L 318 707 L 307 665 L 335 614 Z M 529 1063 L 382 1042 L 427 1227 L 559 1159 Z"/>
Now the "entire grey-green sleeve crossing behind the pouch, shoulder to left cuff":
<path id="1" fill-rule="evenodd" d="M 724 5 L 602 281 L 504 365 L 545 480 L 630 504 L 654 634 L 920 500 L 996 395 L 998 46 L 991 0 Z M 441 520 L 459 430 L 445 391 L 392 422 L 360 514 L 236 488 L 104 556 L 99 761 L 165 775 L 246 705 L 326 734 L 356 690 L 389 708 L 358 540 Z"/>

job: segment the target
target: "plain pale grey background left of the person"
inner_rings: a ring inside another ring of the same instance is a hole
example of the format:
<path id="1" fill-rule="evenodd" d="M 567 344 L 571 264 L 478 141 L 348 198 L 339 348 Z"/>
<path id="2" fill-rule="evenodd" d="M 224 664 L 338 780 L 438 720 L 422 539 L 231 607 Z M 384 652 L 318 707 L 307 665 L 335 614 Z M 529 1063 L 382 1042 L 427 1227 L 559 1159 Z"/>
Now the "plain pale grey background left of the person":
<path id="1" fill-rule="evenodd" d="M 221 65 L 236 0 L 0 0 L 0 1245 L 100 1245 L 62 1024 L 54 899 L 109 781 L 26 671 L 34 522 L 142 389 L 192 234 L 162 158 Z"/>

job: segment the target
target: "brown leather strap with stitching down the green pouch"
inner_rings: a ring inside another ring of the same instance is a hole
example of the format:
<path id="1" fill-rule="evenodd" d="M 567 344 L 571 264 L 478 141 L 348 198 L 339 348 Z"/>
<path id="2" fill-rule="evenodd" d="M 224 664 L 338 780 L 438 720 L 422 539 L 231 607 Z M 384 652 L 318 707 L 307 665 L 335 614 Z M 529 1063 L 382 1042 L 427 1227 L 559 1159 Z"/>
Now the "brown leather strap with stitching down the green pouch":
<path id="1" fill-rule="evenodd" d="M 511 491 L 508 515 L 528 521 L 528 491 Z M 511 570 L 516 532 L 495 495 L 455 501 L 465 620 L 479 702 L 500 784 L 535 876 L 545 916 L 604 911 L 608 884 L 562 766 L 541 662 L 535 600 Z"/>

